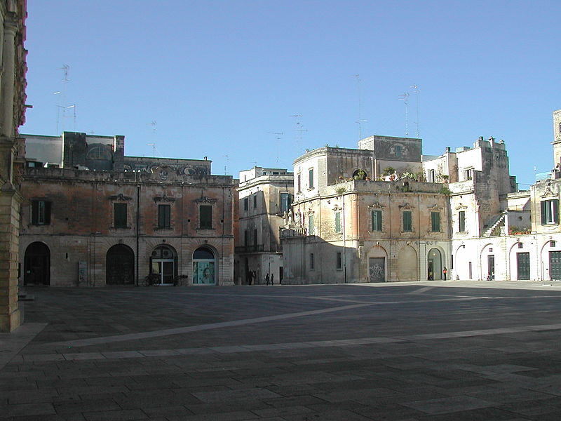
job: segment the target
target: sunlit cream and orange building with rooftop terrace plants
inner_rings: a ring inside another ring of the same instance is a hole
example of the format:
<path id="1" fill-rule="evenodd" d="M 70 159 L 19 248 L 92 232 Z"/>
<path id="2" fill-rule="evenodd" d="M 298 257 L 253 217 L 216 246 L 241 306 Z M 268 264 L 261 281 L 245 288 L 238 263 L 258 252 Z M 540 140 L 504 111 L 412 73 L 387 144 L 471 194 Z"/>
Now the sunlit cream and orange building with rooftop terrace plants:
<path id="1" fill-rule="evenodd" d="M 296 159 L 294 219 L 282 232 L 286 282 L 440 279 L 451 259 L 450 208 L 443 185 L 419 181 L 421 140 L 359 145 Z M 394 171 L 407 176 L 380 180 Z"/>

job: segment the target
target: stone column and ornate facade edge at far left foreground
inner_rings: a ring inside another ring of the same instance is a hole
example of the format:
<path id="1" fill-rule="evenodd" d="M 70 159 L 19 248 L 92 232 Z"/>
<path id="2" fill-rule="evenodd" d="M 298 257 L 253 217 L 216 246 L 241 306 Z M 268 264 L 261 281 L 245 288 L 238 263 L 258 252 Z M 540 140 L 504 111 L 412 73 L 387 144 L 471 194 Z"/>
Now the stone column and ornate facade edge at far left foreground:
<path id="1" fill-rule="evenodd" d="M 18 229 L 22 142 L 25 122 L 25 0 L 0 0 L 0 332 L 20 326 Z"/>

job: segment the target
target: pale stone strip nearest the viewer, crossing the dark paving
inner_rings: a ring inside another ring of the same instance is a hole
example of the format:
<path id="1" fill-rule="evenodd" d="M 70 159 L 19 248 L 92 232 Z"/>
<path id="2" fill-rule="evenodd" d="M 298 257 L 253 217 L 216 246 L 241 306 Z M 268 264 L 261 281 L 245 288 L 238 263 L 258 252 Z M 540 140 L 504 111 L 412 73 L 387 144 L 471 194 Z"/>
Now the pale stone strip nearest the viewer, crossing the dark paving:
<path id="1" fill-rule="evenodd" d="M 415 342 L 417 340 L 441 340 L 468 338 L 473 336 L 502 335 L 505 333 L 539 332 L 541 330 L 561 330 L 561 323 L 518 326 L 513 328 L 492 328 L 480 330 L 461 330 L 457 332 L 421 333 L 419 335 L 377 336 L 370 338 L 349 338 L 338 340 L 317 340 L 306 342 L 278 342 L 273 344 L 223 345 L 218 347 L 198 347 L 181 349 L 140 349 L 137 351 L 101 351 L 62 354 L 27 354 L 22 356 L 25 363 L 45 361 L 87 361 L 138 358 L 168 358 L 189 354 L 236 354 L 255 351 L 290 351 L 291 349 L 356 347 L 362 345 L 388 344 L 396 342 Z"/>

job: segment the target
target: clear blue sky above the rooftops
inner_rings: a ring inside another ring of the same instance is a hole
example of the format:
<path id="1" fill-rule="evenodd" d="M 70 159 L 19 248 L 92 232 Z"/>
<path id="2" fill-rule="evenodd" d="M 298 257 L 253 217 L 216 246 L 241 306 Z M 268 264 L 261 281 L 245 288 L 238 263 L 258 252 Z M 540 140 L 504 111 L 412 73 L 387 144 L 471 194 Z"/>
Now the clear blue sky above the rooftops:
<path id="1" fill-rule="evenodd" d="M 553 168 L 559 6 L 28 0 L 33 108 L 20 132 L 125 135 L 128 155 L 151 156 L 156 143 L 157 156 L 208 156 L 213 173 L 227 166 L 237 177 L 255 163 L 292 168 L 304 149 L 357 147 L 359 98 L 363 137 L 401 136 L 398 98 L 409 92 L 414 137 L 410 86 L 417 84 L 425 154 L 494 136 L 506 142 L 511 174 L 527 188 L 534 166 Z M 65 113 L 58 107 L 71 105 Z"/>

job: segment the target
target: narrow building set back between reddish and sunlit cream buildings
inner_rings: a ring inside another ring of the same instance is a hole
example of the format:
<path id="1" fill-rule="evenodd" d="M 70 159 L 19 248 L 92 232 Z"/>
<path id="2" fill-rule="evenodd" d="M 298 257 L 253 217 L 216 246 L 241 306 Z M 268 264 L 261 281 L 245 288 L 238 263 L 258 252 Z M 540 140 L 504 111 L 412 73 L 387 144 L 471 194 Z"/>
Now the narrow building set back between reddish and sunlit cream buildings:
<path id="1" fill-rule="evenodd" d="M 240 172 L 236 231 L 238 283 L 249 283 L 250 276 L 252 283 L 264 283 L 266 274 L 275 283 L 282 281 L 280 228 L 288 224 L 293 195 L 294 175 L 285 168 L 255 166 Z"/>

